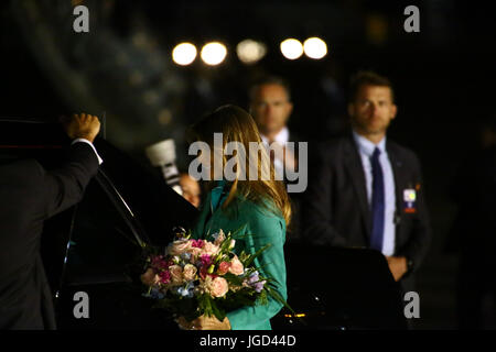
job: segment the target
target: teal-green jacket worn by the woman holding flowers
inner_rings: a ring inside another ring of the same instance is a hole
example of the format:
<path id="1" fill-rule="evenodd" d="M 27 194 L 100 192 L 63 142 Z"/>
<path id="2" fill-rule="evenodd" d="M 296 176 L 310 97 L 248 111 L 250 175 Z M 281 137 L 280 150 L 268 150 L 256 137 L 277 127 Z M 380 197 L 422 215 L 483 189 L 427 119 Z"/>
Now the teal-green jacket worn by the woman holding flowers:
<path id="1" fill-rule="evenodd" d="M 237 232 L 240 235 L 246 234 L 244 239 L 236 240 L 234 252 L 237 254 L 242 250 L 254 254 L 267 243 L 271 243 L 271 246 L 255 260 L 255 265 L 262 266 L 260 272 L 265 276 L 272 277 L 277 282 L 279 294 L 288 299 L 283 252 L 284 219 L 259 205 L 240 198 L 233 201 L 228 209 L 224 210 L 219 207 L 212 213 L 211 197 L 212 193 L 203 202 L 192 237 L 212 240 L 207 234 L 216 233 L 220 229 L 228 233 L 244 228 Z M 227 318 L 233 330 L 271 330 L 270 319 L 281 308 L 282 305 L 269 296 L 267 305 L 239 308 L 227 312 Z"/>

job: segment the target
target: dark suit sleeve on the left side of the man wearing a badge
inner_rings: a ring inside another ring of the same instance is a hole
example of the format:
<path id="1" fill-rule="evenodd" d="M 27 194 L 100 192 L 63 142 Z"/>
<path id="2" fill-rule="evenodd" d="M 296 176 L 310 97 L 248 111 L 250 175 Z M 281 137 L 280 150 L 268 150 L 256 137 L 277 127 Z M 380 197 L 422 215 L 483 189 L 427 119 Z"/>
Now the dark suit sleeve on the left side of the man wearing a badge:
<path id="1" fill-rule="evenodd" d="M 326 146 L 321 145 L 309 169 L 309 187 L 303 195 L 303 242 L 315 245 L 346 246 L 346 239 L 332 226 L 333 169 Z"/>

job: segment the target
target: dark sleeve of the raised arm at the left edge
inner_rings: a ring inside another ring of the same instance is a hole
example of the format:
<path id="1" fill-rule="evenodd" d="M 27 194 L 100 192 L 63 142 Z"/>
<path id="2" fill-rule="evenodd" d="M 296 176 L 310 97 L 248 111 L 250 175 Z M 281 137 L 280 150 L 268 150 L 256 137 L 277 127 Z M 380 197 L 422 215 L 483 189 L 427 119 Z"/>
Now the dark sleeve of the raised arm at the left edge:
<path id="1" fill-rule="evenodd" d="M 98 158 L 87 143 L 75 143 L 68 151 L 67 162 L 54 170 L 41 165 L 41 194 L 44 215 L 50 218 L 78 202 L 93 176 L 98 172 Z"/>

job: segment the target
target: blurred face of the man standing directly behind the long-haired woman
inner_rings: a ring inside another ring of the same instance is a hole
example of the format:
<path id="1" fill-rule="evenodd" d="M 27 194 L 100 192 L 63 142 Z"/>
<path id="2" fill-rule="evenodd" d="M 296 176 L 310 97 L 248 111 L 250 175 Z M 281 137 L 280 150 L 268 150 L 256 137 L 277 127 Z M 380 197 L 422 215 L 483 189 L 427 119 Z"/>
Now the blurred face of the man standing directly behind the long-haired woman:
<path id="1" fill-rule="evenodd" d="M 293 105 L 280 85 L 261 85 L 256 88 L 251 101 L 251 114 L 261 133 L 277 133 L 287 123 Z"/>

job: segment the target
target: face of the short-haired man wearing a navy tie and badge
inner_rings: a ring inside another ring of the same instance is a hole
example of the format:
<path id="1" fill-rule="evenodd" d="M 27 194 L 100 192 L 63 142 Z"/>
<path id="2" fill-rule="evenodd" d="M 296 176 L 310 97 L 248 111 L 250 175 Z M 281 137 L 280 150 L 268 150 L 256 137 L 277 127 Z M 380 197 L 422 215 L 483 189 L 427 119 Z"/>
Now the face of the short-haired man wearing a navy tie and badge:
<path id="1" fill-rule="evenodd" d="M 353 128 L 360 134 L 386 133 L 396 111 L 391 89 L 382 86 L 362 86 L 348 105 Z"/>

